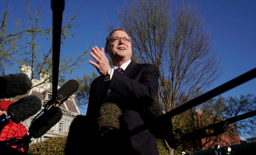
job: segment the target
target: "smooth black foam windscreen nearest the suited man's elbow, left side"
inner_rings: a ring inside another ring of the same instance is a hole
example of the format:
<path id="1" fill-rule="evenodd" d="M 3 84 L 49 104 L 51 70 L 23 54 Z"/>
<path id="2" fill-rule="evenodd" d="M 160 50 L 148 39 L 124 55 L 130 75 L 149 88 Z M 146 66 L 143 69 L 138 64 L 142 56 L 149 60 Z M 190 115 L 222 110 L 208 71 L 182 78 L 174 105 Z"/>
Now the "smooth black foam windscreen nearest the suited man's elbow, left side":
<path id="1" fill-rule="evenodd" d="M 64 85 L 60 87 L 58 93 L 60 93 L 60 98 L 66 97 L 63 102 L 68 100 L 69 96 L 74 94 L 79 88 L 79 83 L 76 80 L 68 80 Z"/>

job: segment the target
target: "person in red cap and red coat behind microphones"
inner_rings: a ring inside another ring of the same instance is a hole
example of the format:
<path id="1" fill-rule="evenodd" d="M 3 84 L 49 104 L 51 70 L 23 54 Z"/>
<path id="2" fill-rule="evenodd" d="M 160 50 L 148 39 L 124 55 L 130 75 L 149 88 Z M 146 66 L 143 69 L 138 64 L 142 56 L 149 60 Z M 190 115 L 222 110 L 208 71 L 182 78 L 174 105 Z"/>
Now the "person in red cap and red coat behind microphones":
<path id="1" fill-rule="evenodd" d="M 2 100 L 0 102 L 0 115 L 5 114 L 7 116 L 7 108 L 12 104 L 13 102 L 10 100 Z M 5 125 L 2 129 L 0 127 L 0 141 L 4 141 L 7 138 L 15 138 L 15 139 L 21 139 L 24 135 L 27 135 L 27 129 L 24 125 L 21 123 L 15 123 L 10 120 L 10 123 Z M 12 146 L 13 148 L 16 148 L 16 146 Z M 26 149 L 21 148 L 20 151 L 22 152 L 28 152 L 28 146 Z"/>

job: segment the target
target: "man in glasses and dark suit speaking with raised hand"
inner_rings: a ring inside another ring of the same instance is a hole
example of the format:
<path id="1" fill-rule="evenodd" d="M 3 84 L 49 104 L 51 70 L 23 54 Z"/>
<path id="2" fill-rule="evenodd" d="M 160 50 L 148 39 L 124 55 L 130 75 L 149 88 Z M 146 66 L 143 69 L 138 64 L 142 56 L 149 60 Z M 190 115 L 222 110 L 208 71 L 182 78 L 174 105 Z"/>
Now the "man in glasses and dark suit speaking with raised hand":
<path id="1" fill-rule="evenodd" d="M 137 108 L 139 103 L 136 101 L 144 95 L 156 97 L 159 87 L 157 67 L 131 61 L 131 38 L 122 28 L 113 30 L 106 39 L 105 52 L 112 60 L 112 67 L 108 63 L 103 48 L 99 49 L 95 46 L 92 52 L 90 55 L 95 62 L 90 60 L 89 63 L 101 76 L 92 81 L 86 115 L 97 121 L 102 101 L 109 94 L 117 93 L 125 100 L 123 116 L 128 129 L 132 130 L 143 124 Z M 138 154 L 158 154 L 156 139 L 148 130 L 132 136 L 130 141 L 132 149 Z"/>

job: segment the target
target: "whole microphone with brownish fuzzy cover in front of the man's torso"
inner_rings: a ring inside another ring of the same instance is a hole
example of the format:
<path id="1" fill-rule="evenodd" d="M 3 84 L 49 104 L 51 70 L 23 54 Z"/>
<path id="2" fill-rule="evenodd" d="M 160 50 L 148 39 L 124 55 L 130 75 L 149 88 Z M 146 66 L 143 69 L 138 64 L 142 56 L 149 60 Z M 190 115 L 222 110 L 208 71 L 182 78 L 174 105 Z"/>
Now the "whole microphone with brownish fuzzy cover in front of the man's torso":
<path id="1" fill-rule="evenodd" d="M 111 94 L 103 100 L 98 116 L 98 141 L 100 154 L 119 154 L 131 148 L 129 138 L 121 137 L 121 132 L 128 131 L 124 122 L 124 100 L 118 94 Z M 126 152 L 127 153 L 127 152 Z M 127 154 L 135 154 L 133 152 Z"/>

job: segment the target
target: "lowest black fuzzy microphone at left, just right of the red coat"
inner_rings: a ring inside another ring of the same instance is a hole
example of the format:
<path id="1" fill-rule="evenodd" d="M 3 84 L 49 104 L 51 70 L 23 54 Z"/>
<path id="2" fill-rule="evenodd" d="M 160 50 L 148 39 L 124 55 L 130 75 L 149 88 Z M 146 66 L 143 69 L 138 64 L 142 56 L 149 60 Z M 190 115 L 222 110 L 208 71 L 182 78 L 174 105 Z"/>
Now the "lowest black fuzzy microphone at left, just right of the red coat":
<path id="1" fill-rule="evenodd" d="M 62 117 L 62 111 L 60 107 L 51 107 L 40 118 L 36 119 L 28 128 L 29 135 L 23 136 L 18 140 L 17 149 L 24 147 L 31 143 L 31 138 L 39 138 L 43 136 L 48 130 L 50 130 L 56 123 L 60 121 Z M 14 144 L 13 144 L 14 145 Z"/>

